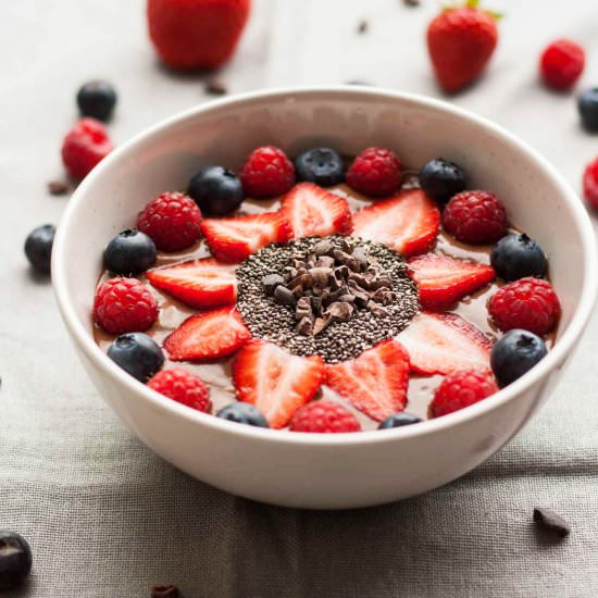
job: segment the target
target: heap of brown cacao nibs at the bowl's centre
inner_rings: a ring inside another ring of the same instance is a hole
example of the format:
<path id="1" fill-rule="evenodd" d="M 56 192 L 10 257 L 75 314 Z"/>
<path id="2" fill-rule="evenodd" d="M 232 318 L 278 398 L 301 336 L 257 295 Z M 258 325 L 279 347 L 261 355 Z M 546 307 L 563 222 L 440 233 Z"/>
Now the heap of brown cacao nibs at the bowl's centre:
<path id="1" fill-rule="evenodd" d="M 296 331 L 315 336 L 331 322 L 348 322 L 359 310 L 387 314 L 384 306 L 397 300 L 393 282 L 366 247 L 350 241 L 339 249 L 328 239 L 307 256 L 291 256 L 283 275 L 267 274 L 264 292 L 282 306 L 295 306 Z"/>

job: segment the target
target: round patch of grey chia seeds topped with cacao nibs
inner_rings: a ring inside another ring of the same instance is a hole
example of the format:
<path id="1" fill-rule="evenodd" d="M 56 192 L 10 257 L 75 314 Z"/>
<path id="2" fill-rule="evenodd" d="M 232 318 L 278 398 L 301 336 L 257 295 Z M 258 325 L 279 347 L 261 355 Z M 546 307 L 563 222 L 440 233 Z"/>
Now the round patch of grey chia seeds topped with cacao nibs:
<path id="1" fill-rule="evenodd" d="M 313 267 L 321 271 L 316 275 L 333 271 L 329 285 L 301 284 Z M 239 265 L 237 279 L 237 309 L 253 336 L 327 363 L 353 359 L 396 336 L 420 309 L 403 259 L 385 245 L 353 237 L 271 244 Z"/>

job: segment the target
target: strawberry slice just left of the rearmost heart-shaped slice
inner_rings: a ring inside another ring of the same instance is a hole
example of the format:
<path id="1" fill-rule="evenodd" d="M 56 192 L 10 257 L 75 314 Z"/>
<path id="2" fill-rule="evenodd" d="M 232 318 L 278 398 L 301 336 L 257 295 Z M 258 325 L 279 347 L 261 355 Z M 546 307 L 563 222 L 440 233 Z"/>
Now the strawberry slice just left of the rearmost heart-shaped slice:
<path id="1" fill-rule="evenodd" d="M 205 219 L 201 232 L 214 257 L 223 262 L 242 262 L 270 242 L 286 242 L 292 232 L 283 214 L 264 212 L 249 216 Z"/>

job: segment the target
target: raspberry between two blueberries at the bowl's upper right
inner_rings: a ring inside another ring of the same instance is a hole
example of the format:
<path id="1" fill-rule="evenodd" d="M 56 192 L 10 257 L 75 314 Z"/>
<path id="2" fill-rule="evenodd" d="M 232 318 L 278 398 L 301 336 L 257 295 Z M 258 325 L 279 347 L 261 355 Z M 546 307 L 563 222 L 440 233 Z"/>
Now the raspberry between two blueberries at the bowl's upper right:
<path id="1" fill-rule="evenodd" d="M 472 245 L 495 242 L 507 233 L 507 214 L 489 191 L 462 191 L 443 212 L 443 225 L 460 241 Z"/>

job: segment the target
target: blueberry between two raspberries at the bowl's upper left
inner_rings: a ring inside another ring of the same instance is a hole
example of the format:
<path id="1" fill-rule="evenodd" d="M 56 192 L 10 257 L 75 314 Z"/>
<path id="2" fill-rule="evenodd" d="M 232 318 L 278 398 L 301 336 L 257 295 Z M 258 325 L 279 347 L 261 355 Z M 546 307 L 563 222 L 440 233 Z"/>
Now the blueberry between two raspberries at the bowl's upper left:
<path id="1" fill-rule="evenodd" d="M 104 266 L 114 274 L 141 274 L 155 263 L 155 244 L 136 228 L 119 233 L 105 247 Z"/>

